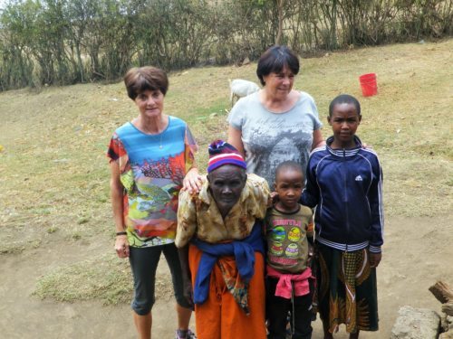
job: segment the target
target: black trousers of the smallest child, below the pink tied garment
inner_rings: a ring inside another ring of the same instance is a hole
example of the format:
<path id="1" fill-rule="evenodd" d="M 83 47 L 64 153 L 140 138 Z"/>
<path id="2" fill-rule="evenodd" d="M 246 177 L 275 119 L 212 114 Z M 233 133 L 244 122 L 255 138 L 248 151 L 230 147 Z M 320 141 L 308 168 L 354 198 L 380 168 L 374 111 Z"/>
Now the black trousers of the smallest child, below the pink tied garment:
<path id="1" fill-rule="evenodd" d="M 291 314 L 291 338 L 310 339 L 312 337 L 312 299 L 313 281 L 310 279 L 310 293 L 291 299 L 275 297 L 278 278 L 266 278 L 265 313 L 267 318 L 268 339 L 285 339 L 288 313 Z M 294 324 L 294 326 L 293 326 Z"/>

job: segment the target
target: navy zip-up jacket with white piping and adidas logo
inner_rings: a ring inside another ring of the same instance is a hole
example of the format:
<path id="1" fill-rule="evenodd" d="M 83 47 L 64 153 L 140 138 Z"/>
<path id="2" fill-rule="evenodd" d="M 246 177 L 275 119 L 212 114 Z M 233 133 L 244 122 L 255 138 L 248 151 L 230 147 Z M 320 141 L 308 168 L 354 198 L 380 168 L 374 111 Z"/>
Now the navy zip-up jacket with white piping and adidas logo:
<path id="1" fill-rule="evenodd" d="M 333 137 L 316 148 L 301 202 L 316 207 L 316 240 L 337 250 L 380 252 L 383 243 L 382 170 L 378 156 L 357 147 L 335 149 Z"/>

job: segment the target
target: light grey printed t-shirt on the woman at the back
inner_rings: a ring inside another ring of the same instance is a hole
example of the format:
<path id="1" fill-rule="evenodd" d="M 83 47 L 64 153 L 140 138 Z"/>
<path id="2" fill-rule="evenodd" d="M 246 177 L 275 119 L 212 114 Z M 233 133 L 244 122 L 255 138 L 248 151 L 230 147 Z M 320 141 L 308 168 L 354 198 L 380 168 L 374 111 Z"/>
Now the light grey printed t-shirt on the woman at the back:
<path id="1" fill-rule="evenodd" d="M 242 132 L 247 172 L 264 177 L 271 189 L 280 163 L 294 160 L 306 170 L 313 130 L 323 126 L 313 98 L 300 94 L 293 108 L 273 113 L 265 109 L 256 92 L 239 99 L 228 116 L 229 124 Z"/>

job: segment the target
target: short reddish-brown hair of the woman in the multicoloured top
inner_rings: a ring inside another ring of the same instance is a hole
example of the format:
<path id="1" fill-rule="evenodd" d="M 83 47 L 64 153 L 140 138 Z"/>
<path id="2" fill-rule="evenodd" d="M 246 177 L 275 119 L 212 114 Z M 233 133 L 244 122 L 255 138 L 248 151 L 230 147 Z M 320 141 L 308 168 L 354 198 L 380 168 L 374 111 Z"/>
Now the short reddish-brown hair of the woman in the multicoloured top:
<path id="1" fill-rule="evenodd" d="M 159 89 L 165 96 L 169 89 L 169 78 L 167 78 L 165 71 L 157 67 L 134 67 L 124 76 L 124 84 L 129 98 L 135 100 L 145 90 Z"/>

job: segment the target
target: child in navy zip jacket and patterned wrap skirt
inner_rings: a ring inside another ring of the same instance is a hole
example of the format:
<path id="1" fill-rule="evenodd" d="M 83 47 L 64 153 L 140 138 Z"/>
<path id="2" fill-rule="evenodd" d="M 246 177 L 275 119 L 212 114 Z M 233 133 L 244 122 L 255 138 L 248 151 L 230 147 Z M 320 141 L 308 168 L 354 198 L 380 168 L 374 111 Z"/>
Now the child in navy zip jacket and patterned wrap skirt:
<path id="1" fill-rule="evenodd" d="M 302 203 L 316 207 L 318 309 L 324 338 L 345 324 L 350 338 L 378 330 L 376 267 L 383 243 L 382 171 L 378 156 L 355 136 L 359 101 L 350 95 L 329 107 L 333 137 L 313 150 Z"/>

